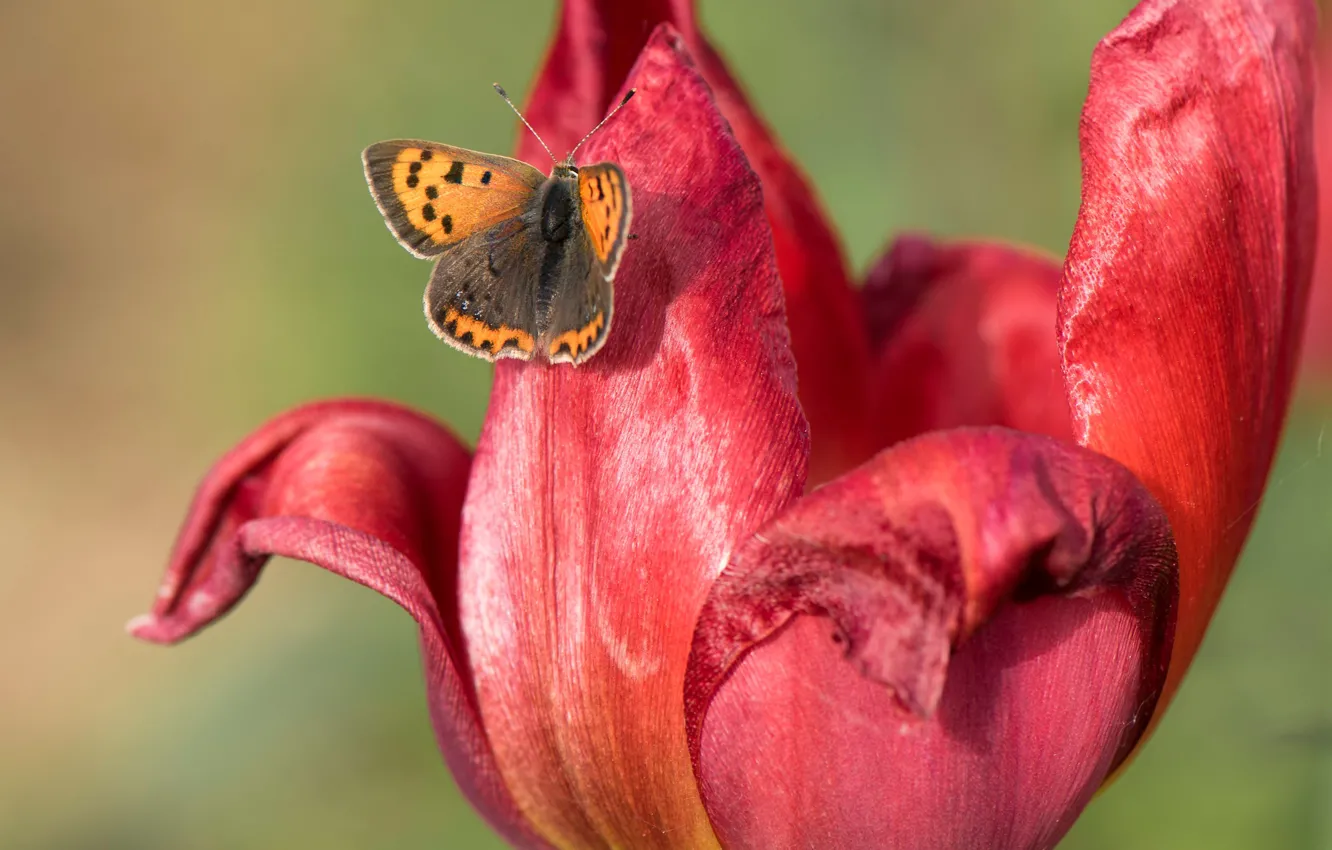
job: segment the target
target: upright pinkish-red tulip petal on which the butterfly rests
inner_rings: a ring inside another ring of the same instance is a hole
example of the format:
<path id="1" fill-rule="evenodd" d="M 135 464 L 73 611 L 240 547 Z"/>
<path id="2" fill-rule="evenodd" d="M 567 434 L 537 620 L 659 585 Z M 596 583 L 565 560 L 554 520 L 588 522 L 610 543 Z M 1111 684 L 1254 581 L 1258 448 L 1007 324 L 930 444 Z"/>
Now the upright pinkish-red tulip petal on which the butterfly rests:
<path id="1" fill-rule="evenodd" d="M 809 440 L 758 180 L 669 27 L 627 85 L 587 143 L 634 187 L 610 337 L 578 368 L 497 366 L 460 608 L 500 770 L 553 845 L 701 847 L 690 636 Z"/>

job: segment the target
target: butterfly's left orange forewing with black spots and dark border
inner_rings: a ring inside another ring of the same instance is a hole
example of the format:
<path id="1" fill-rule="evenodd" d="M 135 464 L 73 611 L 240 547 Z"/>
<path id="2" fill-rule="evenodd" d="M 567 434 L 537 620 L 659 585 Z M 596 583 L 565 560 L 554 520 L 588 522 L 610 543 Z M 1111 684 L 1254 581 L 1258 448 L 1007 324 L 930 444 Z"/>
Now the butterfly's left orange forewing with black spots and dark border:
<path id="1" fill-rule="evenodd" d="M 361 160 L 389 229 L 422 258 L 519 216 L 546 179 L 505 156 L 412 139 L 373 144 Z"/>

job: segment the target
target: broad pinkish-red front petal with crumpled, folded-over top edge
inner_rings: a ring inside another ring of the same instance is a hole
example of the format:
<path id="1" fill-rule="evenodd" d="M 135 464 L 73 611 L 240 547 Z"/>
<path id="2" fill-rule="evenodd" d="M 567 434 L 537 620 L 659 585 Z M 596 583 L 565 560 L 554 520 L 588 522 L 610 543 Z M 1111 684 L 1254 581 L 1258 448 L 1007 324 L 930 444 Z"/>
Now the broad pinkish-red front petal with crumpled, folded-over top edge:
<path id="1" fill-rule="evenodd" d="M 1048 847 L 1166 677 L 1160 508 L 1071 444 L 936 432 L 741 546 L 694 637 L 689 739 L 733 847 Z"/>

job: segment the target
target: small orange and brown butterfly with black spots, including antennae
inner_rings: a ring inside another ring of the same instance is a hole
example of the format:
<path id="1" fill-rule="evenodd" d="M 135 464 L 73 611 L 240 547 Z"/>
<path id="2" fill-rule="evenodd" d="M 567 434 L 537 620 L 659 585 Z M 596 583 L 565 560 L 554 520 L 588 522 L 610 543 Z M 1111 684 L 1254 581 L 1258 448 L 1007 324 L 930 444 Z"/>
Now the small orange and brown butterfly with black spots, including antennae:
<path id="1" fill-rule="evenodd" d="M 496 91 L 531 129 L 498 84 Z M 601 350 L 633 203 L 614 163 L 574 165 L 579 147 L 549 177 L 518 160 L 433 141 L 381 141 L 361 155 L 389 230 L 417 257 L 437 257 L 425 316 L 441 340 L 492 361 L 578 365 Z"/>

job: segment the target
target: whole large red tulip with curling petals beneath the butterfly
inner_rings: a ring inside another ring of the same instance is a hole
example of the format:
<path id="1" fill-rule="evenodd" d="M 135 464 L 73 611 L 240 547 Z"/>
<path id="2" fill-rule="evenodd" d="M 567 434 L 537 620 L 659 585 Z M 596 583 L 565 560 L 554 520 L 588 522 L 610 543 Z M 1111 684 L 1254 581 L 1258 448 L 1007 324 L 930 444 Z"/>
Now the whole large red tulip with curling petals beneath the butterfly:
<path id="1" fill-rule="evenodd" d="M 533 124 L 567 149 L 638 88 L 585 156 L 637 205 L 606 348 L 501 362 L 470 473 L 380 402 L 268 424 L 133 632 L 197 632 L 274 553 L 385 593 L 518 846 L 1051 846 L 1168 701 L 1261 497 L 1312 29 L 1297 0 L 1143 3 L 1092 60 L 1063 272 L 910 238 L 858 292 L 689 4 L 567 0 Z"/>

